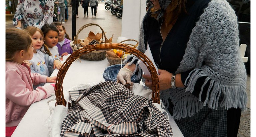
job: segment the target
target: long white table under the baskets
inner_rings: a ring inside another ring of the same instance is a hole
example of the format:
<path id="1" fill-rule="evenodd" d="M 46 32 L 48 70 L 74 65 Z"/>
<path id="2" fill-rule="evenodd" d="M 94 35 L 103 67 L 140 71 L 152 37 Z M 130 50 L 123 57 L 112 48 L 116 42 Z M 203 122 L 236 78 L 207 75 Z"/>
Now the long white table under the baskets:
<path id="1" fill-rule="evenodd" d="M 63 59 L 66 60 L 68 56 L 64 56 Z M 80 60 L 82 62 L 79 62 L 79 60 L 74 61 L 68 69 L 63 80 L 63 91 L 67 91 L 71 87 L 79 84 L 100 83 L 105 81 L 102 74 L 105 68 L 110 66 L 107 59 L 101 61 Z M 64 61 L 62 61 L 62 63 L 64 63 Z M 55 69 L 51 76 L 57 76 L 57 73 L 58 70 Z M 45 85 L 49 84 L 52 83 L 46 83 Z M 55 96 L 51 96 L 47 99 L 31 104 L 12 134 L 12 137 L 47 137 L 48 127 L 45 126 L 45 123 L 50 116 L 50 110 L 47 102 L 54 98 Z M 171 117 L 170 123 L 173 135 L 183 137 L 177 124 Z"/>

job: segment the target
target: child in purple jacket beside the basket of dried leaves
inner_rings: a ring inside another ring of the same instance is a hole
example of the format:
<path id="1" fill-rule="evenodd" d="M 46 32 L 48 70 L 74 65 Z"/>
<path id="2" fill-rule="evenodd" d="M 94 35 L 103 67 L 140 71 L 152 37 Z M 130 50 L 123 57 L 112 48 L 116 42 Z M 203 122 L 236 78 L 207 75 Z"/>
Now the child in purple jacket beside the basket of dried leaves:
<path id="1" fill-rule="evenodd" d="M 52 24 L 59 30 L 59 39 L 56 47 L 59 49 L 59 55 L 61 58 L 65 55 L 72 54 L 73 49 L 70 46 L 71 38 L 69 38 L 69 35 L 66 33 L 65 27 L 58 22 Z"/>

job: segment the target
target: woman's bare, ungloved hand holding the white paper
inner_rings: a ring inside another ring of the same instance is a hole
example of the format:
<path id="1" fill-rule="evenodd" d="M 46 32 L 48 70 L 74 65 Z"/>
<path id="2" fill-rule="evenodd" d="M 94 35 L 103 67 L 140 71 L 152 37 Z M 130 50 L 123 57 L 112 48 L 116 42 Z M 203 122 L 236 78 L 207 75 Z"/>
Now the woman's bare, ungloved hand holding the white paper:
<path id="1" fill-rule="evenodd" d="M 171 77 L 172 73 L 163 70 L 158 69 L 158 79 L 159 79 L 159 90 L 166 90 L 171 88 Z M 145 85 L 149 87 L 151 90 L 153 90 L 153 83 L 150 75 L 142 75 L 143 78 L 145 78 Z"/>

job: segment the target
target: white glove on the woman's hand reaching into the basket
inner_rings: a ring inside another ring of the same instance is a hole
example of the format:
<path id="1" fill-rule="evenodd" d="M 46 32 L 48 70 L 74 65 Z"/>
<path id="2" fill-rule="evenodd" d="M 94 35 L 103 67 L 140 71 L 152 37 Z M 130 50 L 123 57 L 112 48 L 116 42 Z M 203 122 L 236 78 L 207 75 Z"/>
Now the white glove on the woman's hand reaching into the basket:
<path id="1" fill-rule="evenodd" d="M 123 85 L 126 85 L 126 83 L 131 83 L 131 77 L 132 77 L 132 71 L 130 71 L 127 68 L 121 68 L 120 71 L 117 74 L 116 81 L 120 81 Z"/>

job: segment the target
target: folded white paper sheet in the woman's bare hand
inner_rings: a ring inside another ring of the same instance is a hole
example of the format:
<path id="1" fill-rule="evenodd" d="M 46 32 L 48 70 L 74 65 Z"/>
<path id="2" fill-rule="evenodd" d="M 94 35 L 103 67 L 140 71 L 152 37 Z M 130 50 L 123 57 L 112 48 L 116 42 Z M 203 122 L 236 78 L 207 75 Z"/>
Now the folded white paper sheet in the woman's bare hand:
<path id="1" fill-rule="evenodd" d="M 156 67 L 154 58 L 153 58 L 151 50 L 149 48 L 149 44 L 148 44 L 148 48 L 147 48 L 147 50 L 145 51 L 144 54 L 152 61 L 154 67 L 156 68 L 156 72 L 157 72 L 157 75 L 158 75 L 158 69 Z M 141 60 L 138 61 L 138 64 L 139 64 L 140 68 L 143 70 L 145 75 L 150 75 L 150 72 L 148 71 L 147 66 Z"/>

